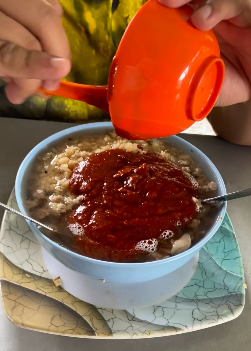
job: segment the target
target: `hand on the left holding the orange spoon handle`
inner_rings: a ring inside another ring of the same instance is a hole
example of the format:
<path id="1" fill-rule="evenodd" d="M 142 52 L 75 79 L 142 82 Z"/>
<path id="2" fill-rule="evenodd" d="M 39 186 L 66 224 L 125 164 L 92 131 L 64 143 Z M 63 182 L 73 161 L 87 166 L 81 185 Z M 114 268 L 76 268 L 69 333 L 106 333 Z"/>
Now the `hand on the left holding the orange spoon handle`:
<path id="1" fill-rule="evenodd" d="M 56 90 L 70 71 L 70 49 L 57 0 L 0 0 L 0 77 L 21 104 L 42 85 Z"/>

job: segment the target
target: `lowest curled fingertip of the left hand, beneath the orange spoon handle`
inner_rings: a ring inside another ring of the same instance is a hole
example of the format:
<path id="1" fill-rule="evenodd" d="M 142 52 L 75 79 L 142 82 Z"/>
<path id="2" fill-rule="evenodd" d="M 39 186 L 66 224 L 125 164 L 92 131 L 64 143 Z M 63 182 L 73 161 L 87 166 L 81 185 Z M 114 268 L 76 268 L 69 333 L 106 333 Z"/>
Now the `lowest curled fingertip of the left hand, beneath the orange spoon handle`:
<path id="1" fill-rule="evenodd" d="M 14 79 L 5 88 L 7 99 L 12 104 L 22 104 L 30 95 L 36 93 L 40 87 L 40 80 L 36 79 Z"/>

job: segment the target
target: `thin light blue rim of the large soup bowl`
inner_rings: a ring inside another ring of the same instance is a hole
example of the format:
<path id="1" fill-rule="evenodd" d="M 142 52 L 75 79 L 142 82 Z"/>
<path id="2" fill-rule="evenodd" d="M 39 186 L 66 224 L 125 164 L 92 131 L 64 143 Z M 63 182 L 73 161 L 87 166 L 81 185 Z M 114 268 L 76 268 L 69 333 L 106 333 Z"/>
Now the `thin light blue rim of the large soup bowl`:
<path id="1" fill-rule="evenodd" d="M 71 133 L 75 133 L 75 132 L 79 132 L 81 130 L 93 130 L 93 133 L 95 133 L 95 129 L 96 128 L 113 128 L 112 122 L 93 122 L 93 123 L 88 123 L 88 124 L 81 124 L 81 125 L 77 125 L 74 127 L 70 127 L 70 128 L 66 128 L 63 131 L 57 132 L 55 134 L 50 135 L 48 138 L 42 140 L 39 144 L 37 144 L 27 155 L 26 157 L 23 159 L 18 173 L 16 175 L 16 179 L 15 179 L 15 196 L 16 196 L 16 201 L 19 207 L 19 210 L 21 213 L 29 215 L 26 210 L 25 207 L 23 206 L 23 200 L 22 200 L 22 191 L 21 191 L 21 184 L 22 184 L 22 179 L 23 176 L 25 174 L 25 171 L 27 169 L 27 167 L 30 164 L 30 161 L 32 161 L 38 154 L 41 153 L 41 151 L 46 148 L 48 146 L 48 144 L 53 143 L 55 141 L 57 141 L 58 139 L 61 139 L 63 137 L 66 137 L 68 134 Z M 195 150 L 195 152 L 201 156 L 202 159 L 204 159 L 204 161 L 208 164 L 208 166 L 211 168 L 211 170 L 215 173 L 215 176 L 219 182 L 220 185 L 220 192 L 221 194 L 225 194 L 226 193 L 226 188 L 225 188 L 225 184 L 224 181 L 222 179 L 221 174 L 219 173 L 219 171 L 217 170 L 216 166 L 212 163 L 212 161 L 202 152 L 200 151 L 197 147 L 195 147 L 193 144 L 189 143 L 188 141 L 178 137 L 177 135 L 173 135 L 171 137 L 167 137 L 168 139 L 170 139 L 170 143 L 172 144 L 172 140 L 177 140 L 177 141 L 182 141 L 182 144 L 185 146 L 187 146 L 188 148 L 192 148 Z M 166 139 L 166 138 L 160 138 L 160 139 Z M 222 220 L 224 219 L 225 213 L 226 213 L 226 206 L 227 203 L 225 201 L 225 203 L 222 205 L 221 211 L 219 212 L 218 218 L 216 219 L 214 225 L 212 226 L 212 228 L 210 229 L 210 231 L 206 234 L 206 236 L 198 241 L 197 244 L 195 244 L 194 246 L 191 246 L 188 250 L 177 254 L 175 256 L 171 256 L 162 260 L 157 260 L 157 261 L 148 261 L 148 262 L 139 262 L 139 263 L 120 263 L 120 262 L 112 262 L 112 261 L 103 261 L 103 260 L 98 260 L 98 259 L 94 259 L 94 258 L 90 258 L 87 256 L 83 256 L 81 254 L 75 253 L 71 250 L 66 249 L 65 247 L 57 244 L 55 241 L 49 239 L 46 235 L 44 235 L 42 232 L 40 232 L 40 230 L 36 227 L 36 225 L 34 223 L 29 222 L 28 220 L 27 223 L 29 225 L 29 227 L 35 231 L 38 235 L 40 235 L 42 237 L 42 239 L 44 241 L 46 241 L 47 243 L 49 243 L 50 245 L 56 247 L 59 250 L 62 250 L 64 253 L 68 254 L 69 256 L 71 256 L 72 258 L 76 258 L 76 259 L 80 259 L 80 260 L 84 260 L 84 261 L 89 261 L 90 263 L 93 264 L 102 264 L 104 266 L 113 266 L 113 267 L 132 267 L 132 266 L 138 266 L 138 267 L 142 267 L 142 266 L 153 266 L 153 265 L 159 265 L 161 263 L 165 263 L 165 262 L 173 262 L 178 260 L 179 258 L 182 257 L 186 257 L 187 255 L 190 255 L 192 252 L 198 252 L 198 247 L 203 247 L 205 245 L 205 243 L 207 243 L 207 241 L 216 233 L 216 231 L 219 229 L 219 227 L 221 226 Z M 212 234 L 213 233 L 213 234 Z"/>

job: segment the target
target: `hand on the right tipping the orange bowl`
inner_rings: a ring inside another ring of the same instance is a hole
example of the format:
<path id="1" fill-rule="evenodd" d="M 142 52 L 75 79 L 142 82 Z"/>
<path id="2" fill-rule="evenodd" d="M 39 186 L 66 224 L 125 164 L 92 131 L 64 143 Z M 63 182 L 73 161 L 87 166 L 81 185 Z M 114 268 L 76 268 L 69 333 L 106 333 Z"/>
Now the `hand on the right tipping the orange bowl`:
<path id="1" fill-rule="evenodd" d="M 225 78 L 215 106 L 229 106 L 251 95 L 251 0 L 159 0 L 168 7 L 189 4 L 193 25 L 212 29 L 225 63 Z"/>

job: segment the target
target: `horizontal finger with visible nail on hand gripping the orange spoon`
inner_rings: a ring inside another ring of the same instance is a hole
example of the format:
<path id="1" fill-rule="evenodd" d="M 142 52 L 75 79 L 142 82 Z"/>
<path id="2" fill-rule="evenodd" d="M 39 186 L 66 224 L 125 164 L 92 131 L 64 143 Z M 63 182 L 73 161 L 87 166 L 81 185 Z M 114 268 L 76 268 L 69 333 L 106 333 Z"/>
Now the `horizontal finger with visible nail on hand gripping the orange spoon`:
<path id="1" fill-rule="evenodd" d="M 0 76 L 58 80 L 70 72 L 68 59 L 46 52 L 26 50 L 8 41 L 0 41 Z"/>

